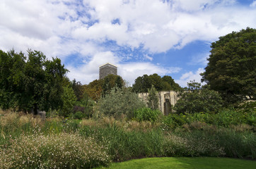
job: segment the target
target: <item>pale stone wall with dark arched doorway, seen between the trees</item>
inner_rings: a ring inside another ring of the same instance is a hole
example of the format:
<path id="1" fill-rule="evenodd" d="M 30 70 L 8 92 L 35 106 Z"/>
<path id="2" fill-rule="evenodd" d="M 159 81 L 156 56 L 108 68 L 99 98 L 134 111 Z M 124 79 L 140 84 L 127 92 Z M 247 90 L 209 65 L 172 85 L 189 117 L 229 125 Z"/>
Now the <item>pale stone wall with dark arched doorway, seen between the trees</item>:
<path id="1" fill-rule="evenodd" d="M 149 93 L 139 93 L 139 98 L 147 101 L 147 98 L 149 96 Z M 176 104 L 178 101 L 178 92 L 174 91 L 162 91 L 158 92 L 158 98 L 159 98 L 159 109 L 164 115 L 168 115 L 170 113 L 171 107 Z"/>

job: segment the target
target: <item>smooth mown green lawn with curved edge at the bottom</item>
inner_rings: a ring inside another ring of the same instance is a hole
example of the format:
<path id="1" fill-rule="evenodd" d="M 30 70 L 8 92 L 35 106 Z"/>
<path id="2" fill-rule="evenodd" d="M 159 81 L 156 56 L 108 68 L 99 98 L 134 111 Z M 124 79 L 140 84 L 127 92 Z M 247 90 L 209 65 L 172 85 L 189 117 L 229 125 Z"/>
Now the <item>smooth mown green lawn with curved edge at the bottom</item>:
<path id="1" fill-rule="evenodd" d="M 198 158 L 188 158 L 188 157 L 165 157 L 165 158 L 142 158 L 131 161 L 125 161 L 122 163 L 112 163 L 109 167 L 110 169 L 120 168 L 120 169 L 255 169 L 256 161 L 241 160 L 234 158 L 209 158 L 209 157 L 198 157 Z"/>

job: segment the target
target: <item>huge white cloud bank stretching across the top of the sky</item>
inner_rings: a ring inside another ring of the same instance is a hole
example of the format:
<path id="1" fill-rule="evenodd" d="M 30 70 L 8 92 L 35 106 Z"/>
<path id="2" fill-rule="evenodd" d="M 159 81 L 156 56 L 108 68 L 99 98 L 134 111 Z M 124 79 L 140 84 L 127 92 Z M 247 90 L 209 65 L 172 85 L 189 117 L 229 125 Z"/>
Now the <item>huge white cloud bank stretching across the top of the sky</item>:
<path id="1" fill-rule="evenodd" d="M 214 41 L 234 30 L 256 27 L 256 11 L 233 6 L 235 3 L 234 0 L 84 0 L 79 4 L 71 0 L 3 0 L 0 30 L 7 42 L 0 40 L 0 45 L 4 49 L 31 46 L 65 56 L 74 52 L 73 47 L 76 51 L 83 50 L 80 46 L 88 46 L 88 42 L 90 48 L 95 48 L 106 40 L 114 40 L 118 45 L 136 48 L 143 44 L 153 53 L 165 52 L 197 39 Z M 255 6 L 255 1 L 250 6 Z M 112 24 L 115 19 L 120 24 Z M 59 40 L 49 40 L 53 37 Z M 71 43 L 76 46 L 66 48 L 65 44 Z"/>

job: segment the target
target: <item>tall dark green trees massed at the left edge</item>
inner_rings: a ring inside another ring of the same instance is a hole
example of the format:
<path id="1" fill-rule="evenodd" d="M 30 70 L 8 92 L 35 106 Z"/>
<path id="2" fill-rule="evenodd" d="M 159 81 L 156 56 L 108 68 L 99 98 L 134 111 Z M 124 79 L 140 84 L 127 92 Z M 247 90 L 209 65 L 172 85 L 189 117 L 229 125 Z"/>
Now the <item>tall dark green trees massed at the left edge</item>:
<path id="1" fill-rule="evenodd" d="M 62 106 L 62 82 L 68 70 L 59 58 L 46 59 L 40 51 L 28 50 L 28 58 L 15 51 L 0 51 L 0 106 L 37 114 Z"/>

